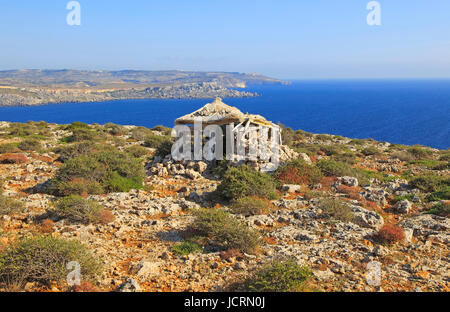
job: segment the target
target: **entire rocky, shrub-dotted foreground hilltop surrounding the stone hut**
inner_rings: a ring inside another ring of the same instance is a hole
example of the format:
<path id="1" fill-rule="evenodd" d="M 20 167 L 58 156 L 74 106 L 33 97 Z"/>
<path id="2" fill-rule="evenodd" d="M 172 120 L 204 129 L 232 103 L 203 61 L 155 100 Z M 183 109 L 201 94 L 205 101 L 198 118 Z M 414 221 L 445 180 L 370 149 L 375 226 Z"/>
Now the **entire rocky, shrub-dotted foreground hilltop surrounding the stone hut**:
<path id="1" fill-rule="evenodd" d="M 174 162 L 169 133 L 0 123 L 0 290 L 449 290 L 448 150 L 285 128 L 266 174 Z"/>

